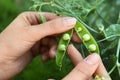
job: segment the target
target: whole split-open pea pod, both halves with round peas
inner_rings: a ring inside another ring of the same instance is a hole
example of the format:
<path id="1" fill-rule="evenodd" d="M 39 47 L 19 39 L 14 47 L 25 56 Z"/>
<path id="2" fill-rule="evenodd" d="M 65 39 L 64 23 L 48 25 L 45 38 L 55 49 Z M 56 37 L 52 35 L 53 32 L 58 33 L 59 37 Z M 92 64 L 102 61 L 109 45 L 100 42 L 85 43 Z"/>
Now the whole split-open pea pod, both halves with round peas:
<path id="1" fill-rule="evenodd" d="M 90 32 L 86 29 L 86 27 L 77 21 L 74 29 L 78 37 L 83 41 L 83 44 L 88 49 L 88 51 L 90 53 L 99 54 L 99 47 L 97 45 L 97 42 L 95 41 L 93 36 L 90 34 Z M 64 33 L 62 38 L 60 38 L 58 48 L 56 51 L 56 64 L 59 67 L 62 67 L 62 60 L 65 56 L 66 49 L 68 47 L 72 34 L 73 34 L 73 29 Z"/>

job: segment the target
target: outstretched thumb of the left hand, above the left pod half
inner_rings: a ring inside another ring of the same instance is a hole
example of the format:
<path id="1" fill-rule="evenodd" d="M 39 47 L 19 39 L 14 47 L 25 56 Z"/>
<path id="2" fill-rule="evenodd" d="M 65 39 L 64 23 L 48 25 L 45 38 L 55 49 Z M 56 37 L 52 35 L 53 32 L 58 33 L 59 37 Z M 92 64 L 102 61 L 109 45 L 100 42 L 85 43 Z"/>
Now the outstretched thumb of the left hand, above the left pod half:
<path id="1" fill-rule="evenodd" d="M 53 19 L 43 24 L 34 25 L 31 27 L 31 35 L 36 40 L 39 40 L 45 36 L 63 33 L 74 27 L 76 19 L 72 17 L 61 17 Z"/>

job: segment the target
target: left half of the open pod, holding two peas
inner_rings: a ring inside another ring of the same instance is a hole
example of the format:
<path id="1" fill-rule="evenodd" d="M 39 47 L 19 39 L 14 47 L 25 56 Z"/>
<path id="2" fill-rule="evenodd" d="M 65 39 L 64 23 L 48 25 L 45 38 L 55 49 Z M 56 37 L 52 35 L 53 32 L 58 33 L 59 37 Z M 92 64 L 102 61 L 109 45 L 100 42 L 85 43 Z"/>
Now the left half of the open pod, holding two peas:
<path id="1" fill-rule="evenodd" d="M 66 49 L 69 45 L 69 42 L 71 40 L 73 34 L 73 29 L 69 30 L 68 32 L 64 33 L 62 37 L 60 38 L 58 48 L 56 51 L 56 64 L 61 68 L 62 67 L 62 60 L 65 56 Z"/>

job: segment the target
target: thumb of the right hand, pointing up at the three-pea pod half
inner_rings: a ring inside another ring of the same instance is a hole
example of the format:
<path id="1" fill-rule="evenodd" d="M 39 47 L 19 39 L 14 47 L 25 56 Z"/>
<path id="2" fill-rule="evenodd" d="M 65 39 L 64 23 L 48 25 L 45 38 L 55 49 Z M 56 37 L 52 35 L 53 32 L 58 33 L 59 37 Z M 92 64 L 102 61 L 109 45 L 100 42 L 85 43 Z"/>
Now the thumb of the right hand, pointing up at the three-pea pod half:
<path id="1" fill-rule="evenodd" d="M 81 61 L 63 80 L 89 80 L 99 65 L 98 54 L 89 55 Z"/>

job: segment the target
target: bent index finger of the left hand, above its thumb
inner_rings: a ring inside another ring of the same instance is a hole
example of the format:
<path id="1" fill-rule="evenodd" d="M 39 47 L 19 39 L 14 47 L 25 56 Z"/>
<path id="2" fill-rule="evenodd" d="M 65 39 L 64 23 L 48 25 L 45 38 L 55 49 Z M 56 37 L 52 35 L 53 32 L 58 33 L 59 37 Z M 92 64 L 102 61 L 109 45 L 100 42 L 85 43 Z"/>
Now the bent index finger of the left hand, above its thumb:
<path id="1" fill-rule="evenodd" d="M 41 23 L 40 14 L 42 14 L 47 21 L 58 18 L 56 14 L 48 12 L 23 12 L 19 15 L 20 18 L 24 19 L 30 25 L 37 25 Z"/>

